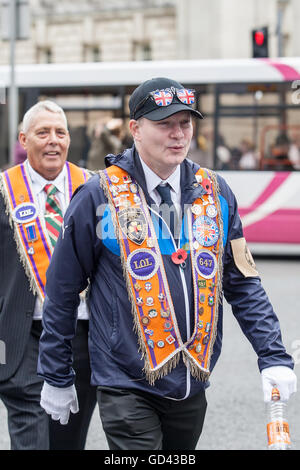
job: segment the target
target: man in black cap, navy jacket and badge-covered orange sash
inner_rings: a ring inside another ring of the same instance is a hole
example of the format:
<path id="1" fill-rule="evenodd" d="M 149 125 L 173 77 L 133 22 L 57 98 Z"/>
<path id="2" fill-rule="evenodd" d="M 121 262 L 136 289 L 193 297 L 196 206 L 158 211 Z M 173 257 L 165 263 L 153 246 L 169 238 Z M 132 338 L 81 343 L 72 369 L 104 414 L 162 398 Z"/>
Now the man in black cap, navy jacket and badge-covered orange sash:
<path id="1" fill-rule="evenodd" d="M 192 116 L 202 118 L 193 103 L 168 78 L 133 92 L 134 145 L 77 191 L 47 273 L 39 374 L 54 396 L 42 391 L 41 405 L 58 419 L 55 389 L 66 389 L 62 414 L 76 397 L 74 312 L 89 286 L 91 381 L 112 450 L 195 449 L 223 294 L 258 355 L 265 401 L 273 384 L 283 399 L 296 390 L 234 195 L 186 158 Z"/>

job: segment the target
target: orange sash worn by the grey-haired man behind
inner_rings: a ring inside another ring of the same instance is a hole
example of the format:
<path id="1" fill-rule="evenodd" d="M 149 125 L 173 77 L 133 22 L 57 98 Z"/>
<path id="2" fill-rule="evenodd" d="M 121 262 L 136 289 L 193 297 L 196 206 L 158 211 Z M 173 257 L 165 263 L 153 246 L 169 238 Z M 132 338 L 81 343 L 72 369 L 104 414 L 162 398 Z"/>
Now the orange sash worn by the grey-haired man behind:
<path id="1" fill-rule="evenodd" d="M 89 173 L 69 162 L 66 162 L 66 170 L 66 200 L 69 203 L 73 192 L 87 181 Z M 43 301 L 53 248 L 24 163 L 0 175 L 0 191 L 30 288 Z"/>

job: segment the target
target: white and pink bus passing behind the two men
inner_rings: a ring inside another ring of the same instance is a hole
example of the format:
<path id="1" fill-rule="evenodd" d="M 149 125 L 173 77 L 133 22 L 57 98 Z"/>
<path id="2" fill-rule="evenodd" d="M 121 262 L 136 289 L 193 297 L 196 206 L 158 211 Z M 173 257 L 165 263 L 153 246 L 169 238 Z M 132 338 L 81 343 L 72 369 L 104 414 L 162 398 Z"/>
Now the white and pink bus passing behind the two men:
<path id="1" fill-rule="evenodd" d="M 66 111 L 70 160 L 85 165 L 93 127 L 129 120 L 133 89 L 171 77 L 195 90 L 190 158 L 215 169 L 239 204 L 253 254 L 300 254 L 300 58 L 17 65 L 19 115 L 40 99 Z M 0 167 L 8 163 L 9 66 L 0 66 Z"/>

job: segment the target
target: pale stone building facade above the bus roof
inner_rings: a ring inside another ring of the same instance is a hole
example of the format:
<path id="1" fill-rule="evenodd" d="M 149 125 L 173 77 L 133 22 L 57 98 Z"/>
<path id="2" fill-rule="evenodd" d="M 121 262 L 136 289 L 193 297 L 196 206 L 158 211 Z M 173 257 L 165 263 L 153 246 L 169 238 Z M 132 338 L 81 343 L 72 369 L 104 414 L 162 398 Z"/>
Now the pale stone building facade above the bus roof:
<path id="1" fill-rule="evenodd" d="M 17 63 L 247 58 L 268 26 L 270 56 L 300 55 L 299 0 L 29 0 Z M 280 33 L 280 35 L 279 35 Z M 281 42 L 279 42 L 281 40 Z M 0 41 L 0 64 L 9 43 Z"/>

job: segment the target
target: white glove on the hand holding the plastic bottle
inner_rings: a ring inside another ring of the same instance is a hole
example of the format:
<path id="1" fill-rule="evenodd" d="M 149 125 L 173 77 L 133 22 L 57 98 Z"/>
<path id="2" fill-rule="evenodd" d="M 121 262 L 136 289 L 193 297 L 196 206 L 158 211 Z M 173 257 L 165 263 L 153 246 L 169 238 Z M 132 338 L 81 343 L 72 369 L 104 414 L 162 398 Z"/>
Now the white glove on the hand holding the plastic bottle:
<path id="1" fill-rule="evenodd" d="M 261 371 L 264 401 L 271 401 L 272 388 L 276 387 L 282 401 L 288 401 L 297 391 L 297 376 L 292 369 L 286 366 L 267 367 Z"/>

